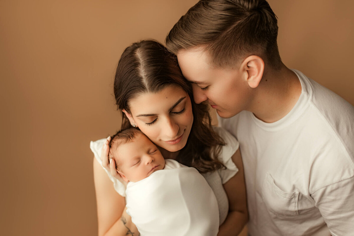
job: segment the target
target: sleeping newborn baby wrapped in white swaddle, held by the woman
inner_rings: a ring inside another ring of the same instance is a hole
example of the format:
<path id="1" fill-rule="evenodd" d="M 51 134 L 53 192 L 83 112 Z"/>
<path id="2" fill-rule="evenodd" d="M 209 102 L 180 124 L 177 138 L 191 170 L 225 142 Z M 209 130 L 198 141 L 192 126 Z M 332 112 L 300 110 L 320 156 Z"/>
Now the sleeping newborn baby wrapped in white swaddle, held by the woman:
<path id="1" fill-rule="evenodd" d="M 142 236 L 217 235 L 218 203 L 195 168 L 165 160 L 136 128 L 111 137 L 109 158 L 128 182 L 127 213 Z"/>

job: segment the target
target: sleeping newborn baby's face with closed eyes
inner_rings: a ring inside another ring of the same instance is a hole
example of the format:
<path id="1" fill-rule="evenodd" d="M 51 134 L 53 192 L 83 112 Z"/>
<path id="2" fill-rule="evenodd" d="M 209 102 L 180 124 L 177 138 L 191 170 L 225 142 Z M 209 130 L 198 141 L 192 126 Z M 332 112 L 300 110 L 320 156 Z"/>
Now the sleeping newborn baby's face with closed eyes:
<path id="1" fill-rule="evenodd" d="M 121 144 L 115 150 L 120 170 L 118 173 L 128 182 L 137 182 L 165 167 L 165 159 L 148 137 L 138 134 L 134 140 Z"/>

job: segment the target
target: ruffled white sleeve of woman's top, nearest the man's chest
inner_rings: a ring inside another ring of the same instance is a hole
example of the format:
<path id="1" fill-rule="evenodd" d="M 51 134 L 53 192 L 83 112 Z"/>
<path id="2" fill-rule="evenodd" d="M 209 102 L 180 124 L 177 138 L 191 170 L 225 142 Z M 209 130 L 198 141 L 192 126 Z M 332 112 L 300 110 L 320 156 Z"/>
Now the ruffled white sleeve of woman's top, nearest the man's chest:
<path id="1" fill-rule="evenodd" d="M 219 161 L 221 161 L 226 169 L 219 169 L 218 173 L 221 177 L 222 183 L 225 184 L 229 181 L 239 169 L 236 167 L 235 163 L 232 161 L 231 157 L 239 149 L 239 142 L 232 136 L 228 131 L 221 127 L 213 127 L 219 136 L 224 140 L 225 145 L 222 146 L 220 154 L 218 156 Z"/>

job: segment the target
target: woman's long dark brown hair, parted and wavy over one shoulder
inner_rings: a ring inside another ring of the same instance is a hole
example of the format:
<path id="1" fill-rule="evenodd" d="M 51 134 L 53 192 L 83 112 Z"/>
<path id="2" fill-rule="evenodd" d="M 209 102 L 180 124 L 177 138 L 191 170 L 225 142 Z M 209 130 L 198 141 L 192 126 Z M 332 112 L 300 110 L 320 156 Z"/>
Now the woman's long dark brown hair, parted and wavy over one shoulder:
<path id="1" fill-rule="evenodd" d="M 143 40 L 123 52 L 114 79 L 114 96 L 118 109 L 131 113 L 129 101 L 143 93 L 156 93 L 166 86 L 180 86 L 193 98 L 192 86 L 184 79 L 176 56 L 154 40 Z M 187 144 L 179 152 L 177 161 L 200 173 L 224 167 L 217 157 L 222 138 L 212 129 L 209 107 L 192 99 L 193 125 Z M 122 112 L 122 129 L 132 127 Z M 215 158 L 213 158 L 215 157 Z"/>

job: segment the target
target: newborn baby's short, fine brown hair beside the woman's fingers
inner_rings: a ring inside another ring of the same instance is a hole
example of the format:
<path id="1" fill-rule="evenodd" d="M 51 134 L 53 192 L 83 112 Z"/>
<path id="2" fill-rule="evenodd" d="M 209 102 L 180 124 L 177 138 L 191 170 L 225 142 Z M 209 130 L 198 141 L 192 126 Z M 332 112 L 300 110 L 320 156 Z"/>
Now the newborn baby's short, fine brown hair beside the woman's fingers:
<path id="1" fill-rule="evenodd" d="M 120 161 L 118 156 L 116 155 L 116 150 L 121 144 L 125 144 L 128 142 L 132 142 L 138 135 L 145 135 L 137 128 L 127 128 L 116 132 L 111 136 L 111 140 L 109 141 L 109 153 L 108 158 L 113 159 L 115 161 L 115 168 L 120 168 Z"/>

